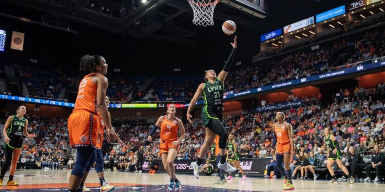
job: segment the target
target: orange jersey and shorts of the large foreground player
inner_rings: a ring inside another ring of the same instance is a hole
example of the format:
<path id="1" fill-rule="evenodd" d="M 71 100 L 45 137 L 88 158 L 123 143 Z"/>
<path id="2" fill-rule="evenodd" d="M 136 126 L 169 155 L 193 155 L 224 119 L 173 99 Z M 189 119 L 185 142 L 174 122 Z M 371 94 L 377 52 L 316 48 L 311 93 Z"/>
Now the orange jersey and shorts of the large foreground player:
<path id="1" fill-rule="evenodd" d="M 72 147 L 96 147 L 100 129 L 100 120 L 97 106 L 97 84 L 91 77 L 98 73 L 86 75 L 79 84 L 75 108 L 68 118 L 68 132 Z"/>

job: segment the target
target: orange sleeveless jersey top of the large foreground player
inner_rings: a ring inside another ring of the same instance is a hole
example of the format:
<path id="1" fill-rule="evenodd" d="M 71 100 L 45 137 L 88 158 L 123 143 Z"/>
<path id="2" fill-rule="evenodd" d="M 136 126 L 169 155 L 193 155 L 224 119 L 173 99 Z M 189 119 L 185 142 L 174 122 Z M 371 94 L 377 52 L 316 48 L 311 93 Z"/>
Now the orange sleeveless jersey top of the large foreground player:
<path id="1" fill-rule="evenodd" d="M 91 73 L 86 75 L 79 83 L 79 91 L 78 96 L 75 101 L 76 110 L 86 110 L 93 113 L 98 113 L 97 106 L 97 84 L 91 81 L 91 77 L 96 75 L 97 73 Z"/>

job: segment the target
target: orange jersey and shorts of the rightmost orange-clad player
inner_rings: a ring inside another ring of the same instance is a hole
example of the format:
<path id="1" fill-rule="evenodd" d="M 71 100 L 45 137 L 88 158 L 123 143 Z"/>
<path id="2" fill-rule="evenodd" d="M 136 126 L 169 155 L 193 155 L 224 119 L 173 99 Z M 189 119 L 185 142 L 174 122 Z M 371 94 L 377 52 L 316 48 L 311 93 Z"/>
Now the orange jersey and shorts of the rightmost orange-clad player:
<path id="1" fill-rule="evenodd" d="M 290 139 L 286 129 L 286 122 L 282 125 L 274 124 L 275 135 L 277 136 L 277 154 L 288 154 L 291 151 Z"/>

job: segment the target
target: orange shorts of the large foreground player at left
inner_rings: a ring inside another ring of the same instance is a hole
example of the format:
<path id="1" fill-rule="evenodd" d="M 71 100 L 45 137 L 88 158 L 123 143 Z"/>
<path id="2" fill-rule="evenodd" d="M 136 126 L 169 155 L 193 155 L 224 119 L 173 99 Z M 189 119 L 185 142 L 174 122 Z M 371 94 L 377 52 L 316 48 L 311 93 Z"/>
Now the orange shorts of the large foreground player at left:
<path id="1" fill-rule="evenodd" d="M 98 115 L 79 110 L 69 116 L 67 125 L 71 147 L 96 147 L 100 132 L 100 118 Z"/>

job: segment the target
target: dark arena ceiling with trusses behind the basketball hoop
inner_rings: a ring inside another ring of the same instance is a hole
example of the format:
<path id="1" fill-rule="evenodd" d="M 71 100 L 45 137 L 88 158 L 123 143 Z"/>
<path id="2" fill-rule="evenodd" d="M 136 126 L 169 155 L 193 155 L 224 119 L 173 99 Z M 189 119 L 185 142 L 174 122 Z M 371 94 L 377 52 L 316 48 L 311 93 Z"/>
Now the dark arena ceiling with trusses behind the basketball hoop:
<path id="1" fill-rule="evenodd" d="M 192 10 L 186 0 L 147 0 L 145 4 L 142 1 L 144 0 L 0 0 L 3 5 L 39 12 L 41 16 L 37 22 L 68 31 L 76 31 L 70 25 L 71 22 L 76 22 L 115 33 L 129 34 L 133 38 L 194 43 L 197 27 L 191 23 Z M 279 25 L 296 22 L 297 18 L 314 15 L 315 11 L 325 11 L 347 2 L 349 1 L 268 0 L 268 16 L 265 19 L 226 4 L 219 4 L 214 17 L 218 23 L 230 19 L 238 25 L 257 28 L 258 32 L 264 33 L 281 27 Z M 18 15 L 20 14 L 16 11 L 2 12 L 2 16 Z"/>

